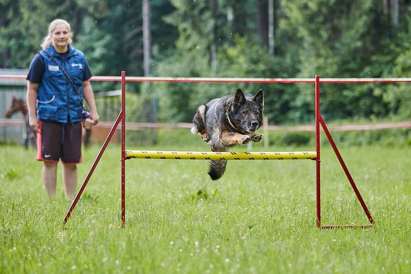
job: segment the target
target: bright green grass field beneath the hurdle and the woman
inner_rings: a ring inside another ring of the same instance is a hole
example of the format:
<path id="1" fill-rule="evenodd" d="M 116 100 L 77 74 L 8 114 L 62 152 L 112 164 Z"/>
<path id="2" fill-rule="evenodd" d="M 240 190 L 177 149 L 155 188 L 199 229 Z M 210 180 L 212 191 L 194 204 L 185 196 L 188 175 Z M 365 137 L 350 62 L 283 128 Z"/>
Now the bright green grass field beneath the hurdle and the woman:
<path id="1" fill-rule="evenodd" d="M 208 149 L 150 149 L 165 148 Z M 0 272 L 409 273 L 411 150 L 340 149 L 376 221 L 370 229 L 315 227 L 311 160 L 229 161 L 211 181 L 207 161 L 140 159 L 126 162 L 126 227 L 119 229 L 120 148 L 110 144 L 62 230 L 71 202 L 60 167 L 57 198 L 49 199 L 34 152 L 3 145 Z M 284 150 L 313 148 L 270 148 Z M 98 151 L 83 150 L 79 184 Z M 323 225 L 368 223 L 329 145 L 321 190 Z"/>

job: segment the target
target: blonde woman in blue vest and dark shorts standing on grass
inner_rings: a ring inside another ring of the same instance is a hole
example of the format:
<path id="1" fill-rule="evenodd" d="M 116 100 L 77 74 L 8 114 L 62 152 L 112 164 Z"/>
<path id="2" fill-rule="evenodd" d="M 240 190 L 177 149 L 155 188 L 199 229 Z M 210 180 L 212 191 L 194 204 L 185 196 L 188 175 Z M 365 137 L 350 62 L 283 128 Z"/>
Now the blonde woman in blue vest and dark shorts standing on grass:
<path id="1" fill-rule="evenodd" d="M 67 21 L 50 23 L 48 34 L 30 63 L 27 76 L 29 124 L 37 132 L 37 160 L 44 162 L 43 184 L 55 196 L 57 163 L 63 163 L 66 198 L 76 194 L 77 163 L 81 162 L 83 98 L 90 117 L 99 115 L 90 84 L 91 71 L 84 53 L 71 46 Z"/>

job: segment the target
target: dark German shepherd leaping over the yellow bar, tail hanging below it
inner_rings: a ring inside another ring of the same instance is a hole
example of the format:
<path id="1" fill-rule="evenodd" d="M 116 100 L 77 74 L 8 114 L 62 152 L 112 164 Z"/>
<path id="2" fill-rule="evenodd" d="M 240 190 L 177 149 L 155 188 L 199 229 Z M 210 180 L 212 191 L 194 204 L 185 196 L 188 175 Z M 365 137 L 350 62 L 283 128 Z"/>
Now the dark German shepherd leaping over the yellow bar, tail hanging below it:
<path id="1" fill-rule="evenodd" d="M 250 141 L 259 142 L 263 134 L 254 132 L 263 123 L 264 93 L 244 94 L 240 88 L 234 95 L 211 100 L 197 108 L 191 133 L 201 135 L 211 151 L 229 148 Z M 211 160 L 208 174 L 218 180 L 226 171 L 227 160 Z"/>

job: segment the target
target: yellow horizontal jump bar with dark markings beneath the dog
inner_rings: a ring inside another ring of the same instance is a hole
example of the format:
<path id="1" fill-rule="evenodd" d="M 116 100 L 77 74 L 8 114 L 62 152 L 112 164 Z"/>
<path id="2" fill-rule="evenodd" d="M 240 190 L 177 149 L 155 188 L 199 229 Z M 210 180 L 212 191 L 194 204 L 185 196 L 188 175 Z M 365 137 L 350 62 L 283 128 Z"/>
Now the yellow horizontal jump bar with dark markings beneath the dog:
<path id="1" fill-rule="evenodd" d="M 308 152 L 203 152 L 127 150 L 127 158 L 184 159 L 184 160 L 303 160 L 316 158 L 315 151 Z"/>

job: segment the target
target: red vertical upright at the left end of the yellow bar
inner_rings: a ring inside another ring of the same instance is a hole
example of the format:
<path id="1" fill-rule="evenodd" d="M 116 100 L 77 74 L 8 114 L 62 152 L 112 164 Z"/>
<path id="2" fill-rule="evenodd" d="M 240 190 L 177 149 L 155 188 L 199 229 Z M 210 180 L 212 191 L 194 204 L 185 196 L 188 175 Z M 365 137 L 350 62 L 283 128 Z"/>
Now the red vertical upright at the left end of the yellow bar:
<path id="1" fill-rule="evenodd" d="M 121 71 L 121 227 L 125 226 L 125 71 Z"/>

